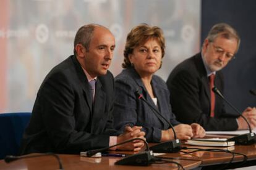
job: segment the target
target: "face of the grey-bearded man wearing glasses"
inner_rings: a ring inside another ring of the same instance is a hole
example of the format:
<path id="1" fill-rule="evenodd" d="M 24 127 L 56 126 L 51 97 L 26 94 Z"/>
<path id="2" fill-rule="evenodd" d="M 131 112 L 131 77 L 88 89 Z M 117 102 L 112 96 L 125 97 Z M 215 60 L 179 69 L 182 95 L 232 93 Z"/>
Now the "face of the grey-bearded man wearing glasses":
<path id="1" fill-rule="evenodd" d="M 208 68 L 211 71 L 219 71 L 233 59 L 236 50 L 236 39 L 226 39 L 218 36 L 213 42 L 209 42 L 208 39 L 205 39 L 202 54 L 203 57 L 205 57 Z"/>

